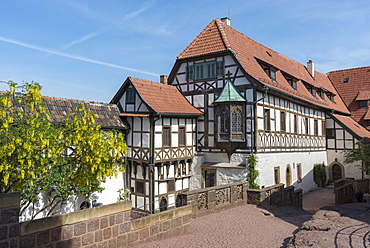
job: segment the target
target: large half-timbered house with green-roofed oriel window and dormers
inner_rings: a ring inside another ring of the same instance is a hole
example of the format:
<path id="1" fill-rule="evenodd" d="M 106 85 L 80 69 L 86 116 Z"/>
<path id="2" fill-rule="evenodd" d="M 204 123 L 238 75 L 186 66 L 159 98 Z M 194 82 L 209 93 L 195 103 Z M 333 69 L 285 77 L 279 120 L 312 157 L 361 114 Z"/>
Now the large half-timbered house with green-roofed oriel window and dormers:
<path id="1" fill-rule="evenodd" d="M 316 187 L 314 164 L 328 164 L 327 120 L 350 115 L 312 61 L 302 65 L 261 45 L 228 18 L 214 19 L 185 48 L 168 81 L 204 113 L 192 189 L 245 180 L 254 153 L 262 187 L 285 183 L 307 192 Z"/>

